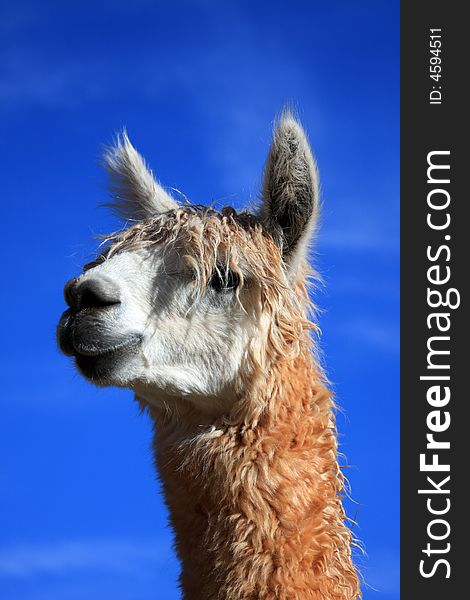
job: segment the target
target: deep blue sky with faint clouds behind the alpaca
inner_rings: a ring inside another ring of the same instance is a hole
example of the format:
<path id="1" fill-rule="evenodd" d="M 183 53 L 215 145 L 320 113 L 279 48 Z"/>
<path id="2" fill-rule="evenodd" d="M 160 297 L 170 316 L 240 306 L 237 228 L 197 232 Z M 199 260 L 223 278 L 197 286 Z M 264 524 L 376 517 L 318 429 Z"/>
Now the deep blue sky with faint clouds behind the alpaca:
<path id="1" fill-rule="evenodd" d="M 117 130 L 165 185 L 240 207 L 289 103 L 321 172 L 315 300 L 364 597 L 397 599 L 398 2 L 0 6 L 0 596 L 179 598 L 149 421 L 59 355 L 62 287 L 118 226 L 98 207 Z"/>

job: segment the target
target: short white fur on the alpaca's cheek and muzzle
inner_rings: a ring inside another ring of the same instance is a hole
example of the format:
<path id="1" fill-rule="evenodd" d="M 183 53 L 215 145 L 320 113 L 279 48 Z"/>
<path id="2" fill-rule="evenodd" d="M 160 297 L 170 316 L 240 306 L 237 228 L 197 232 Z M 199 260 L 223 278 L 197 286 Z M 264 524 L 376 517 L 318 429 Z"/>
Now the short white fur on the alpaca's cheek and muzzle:
<path id="1" fill-rule="evenodd" d="M 81 281 L 98 278 L 119 289 L 120 306 L 107 329 L 140 336 L 142 343 L 112 383 L 132 387 L 148 401 L 184 396 L 197 402 L 233 399 L 246 346 L 253 335 L 252 317 L 231 290 L 208 290 L 195 296 L 191 273 L 175 249 L 118 252 L 86 271 Z"/>

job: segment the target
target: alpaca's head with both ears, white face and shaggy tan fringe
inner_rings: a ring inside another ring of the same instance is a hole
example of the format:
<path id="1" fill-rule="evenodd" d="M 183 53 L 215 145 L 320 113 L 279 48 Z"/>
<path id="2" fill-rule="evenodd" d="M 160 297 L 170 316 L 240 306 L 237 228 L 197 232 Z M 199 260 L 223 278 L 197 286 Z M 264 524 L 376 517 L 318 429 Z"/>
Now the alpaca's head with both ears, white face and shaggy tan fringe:
<path id="1" fill-rule="evenodd" d="M 318 211 L 306 136 L 292 116 L 280 120 L 255 214 L 179 205 L 126 135 L 105 166 L 131 225 L 66 284 L 60 348 L 98 385 L 225 411 L 306 327 L 304 258 Z"/>

